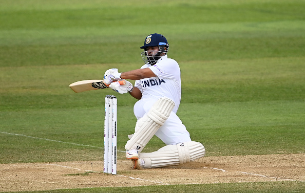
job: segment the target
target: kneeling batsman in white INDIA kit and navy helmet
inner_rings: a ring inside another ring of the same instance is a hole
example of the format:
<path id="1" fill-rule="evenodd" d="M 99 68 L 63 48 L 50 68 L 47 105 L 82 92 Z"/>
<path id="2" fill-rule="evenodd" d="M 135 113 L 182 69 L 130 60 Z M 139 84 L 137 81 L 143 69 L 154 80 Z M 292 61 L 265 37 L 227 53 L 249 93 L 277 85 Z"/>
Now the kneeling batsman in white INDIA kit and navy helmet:
<path id="1" fill-rule="evenodd" d="M 181 100 L 180 67 L 167 57 L 167 39 L 161 34 L 150 34 L 141 49 L 145 62 L 140 69 L 119 73 L 118 69 L 105 72 L 104 82 L 121 94 L 129 93 L 138 99 L 134 114 L 138 121 L 135 133 L 127 141 L 126 158 L 134 169 L 175 166 L 189 163 L 205 155 L 204 146 L 192 141 L 185 125 L 176 115 Z M 126 80 L 136 80 L 135 86 Z M 145 145 L 156 135 L 166 145 L 156 152 L 142 153 Z"/>

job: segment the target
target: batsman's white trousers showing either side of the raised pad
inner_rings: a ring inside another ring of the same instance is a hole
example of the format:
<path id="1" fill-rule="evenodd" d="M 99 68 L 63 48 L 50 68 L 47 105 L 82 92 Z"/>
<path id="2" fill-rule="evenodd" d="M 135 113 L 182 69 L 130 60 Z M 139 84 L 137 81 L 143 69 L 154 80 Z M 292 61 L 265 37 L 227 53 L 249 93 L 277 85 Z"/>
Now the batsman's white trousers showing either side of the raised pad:
<path id="1" fill-rule="evenodd" d="M 137 101 L 134 106 L 134 114 L 137 119 L 143 117 L 156 101 L 157 99 L 141 99 Z M 164 125 L 159 128 L 155 135 L 166 145 L 192 141 L 190 140 L 185 125 L 174 112 L 170 113 L 170 116 L 165 121 Z"/>

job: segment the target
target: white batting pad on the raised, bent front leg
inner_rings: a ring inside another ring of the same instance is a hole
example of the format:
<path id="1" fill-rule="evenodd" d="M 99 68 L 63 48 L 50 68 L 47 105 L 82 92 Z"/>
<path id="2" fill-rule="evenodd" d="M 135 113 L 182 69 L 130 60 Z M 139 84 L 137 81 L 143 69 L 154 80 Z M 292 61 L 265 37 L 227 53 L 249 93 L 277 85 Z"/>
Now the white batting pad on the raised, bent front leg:
<path id="1" fill-rule="evenodd" d="M 135 133 L 125 145 L 125 149 L 137 149 L 139 152 L 156 134 L 174 109 L 175 103 L 168 98 L 160 98 L 151 109 L 137 121 Z"/>

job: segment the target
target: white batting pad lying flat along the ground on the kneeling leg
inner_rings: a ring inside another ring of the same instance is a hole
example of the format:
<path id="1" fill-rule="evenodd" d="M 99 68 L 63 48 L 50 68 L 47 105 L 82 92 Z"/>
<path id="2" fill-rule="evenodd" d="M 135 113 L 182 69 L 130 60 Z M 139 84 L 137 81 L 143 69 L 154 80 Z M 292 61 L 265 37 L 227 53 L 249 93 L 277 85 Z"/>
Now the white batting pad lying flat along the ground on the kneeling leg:
<path id="1" fill-rule="evenodd" d="M 205 149 L 201 143 L 189 141 L 177 145 L 166 145 L 157 152 L 141 153 L 139 157 L 145 161 L 144 168 L 155 168 L 183 165 L 204 155 Z"/>

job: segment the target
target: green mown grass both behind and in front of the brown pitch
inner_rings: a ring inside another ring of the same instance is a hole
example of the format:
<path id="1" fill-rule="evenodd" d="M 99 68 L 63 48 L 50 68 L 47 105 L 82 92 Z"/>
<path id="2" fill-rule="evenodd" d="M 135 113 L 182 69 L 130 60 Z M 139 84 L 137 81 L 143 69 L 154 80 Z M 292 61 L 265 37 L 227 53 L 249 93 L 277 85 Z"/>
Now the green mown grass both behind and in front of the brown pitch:
<path id="1" fill-rule="evenodd" d="M 150 33 L 164 34 L 168 56 L 179 62 L 178 115 L 206 156 L 305 153 L 304 6 L 301 0 L 0 0 L 0 163 L 102 160 L 104 96 L 116 93 L 76 94 L 68 85 L 101 79 L 109 68 L 141 67 L 140 46 Z M 117 97 L 123 151 L 136 99 Z M 153 138 L 145 149 L 162 146 Z M 161 187 L 305 191 L 301 182 Z M 127 192 L 65 192 L 119 190 Z"/>

